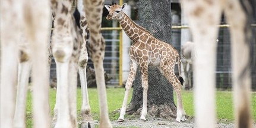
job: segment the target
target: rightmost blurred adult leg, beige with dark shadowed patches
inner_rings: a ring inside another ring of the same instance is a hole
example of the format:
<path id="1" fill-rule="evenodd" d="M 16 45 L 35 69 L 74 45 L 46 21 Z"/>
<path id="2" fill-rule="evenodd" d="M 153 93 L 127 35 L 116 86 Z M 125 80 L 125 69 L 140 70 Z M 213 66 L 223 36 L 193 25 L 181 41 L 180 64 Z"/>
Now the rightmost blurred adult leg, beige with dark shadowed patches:
<path id="1" fill-rule="evenodd" d="M 250 108 L 250 58 L 249 41 L 252 17 L 249 1 L 226 1 L 225 15 L 230 24 L 232 41 L 232 80 L 235 108 L 235 127 L 253 127 Z M 242 6 L 244 5 L 244 6 Z"/>

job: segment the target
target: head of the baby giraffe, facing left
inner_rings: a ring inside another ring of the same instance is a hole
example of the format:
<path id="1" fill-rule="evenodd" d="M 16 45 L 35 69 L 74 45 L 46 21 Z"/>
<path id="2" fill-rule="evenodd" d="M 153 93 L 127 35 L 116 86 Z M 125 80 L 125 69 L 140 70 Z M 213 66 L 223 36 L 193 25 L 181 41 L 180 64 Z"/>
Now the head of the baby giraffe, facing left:
<path id="1" fill-rule="evenodd" d="M 127 5 L 127 3 L 123 4 L 122 6 L 118 4 L 105 5 L 105 8 L 108 9 L 109 11 L 109 15 L 107 16 L 106 19 L 109 20 L 109 19 L 121 17 L 121 12 L 124 10 L 125 5 Z"/>

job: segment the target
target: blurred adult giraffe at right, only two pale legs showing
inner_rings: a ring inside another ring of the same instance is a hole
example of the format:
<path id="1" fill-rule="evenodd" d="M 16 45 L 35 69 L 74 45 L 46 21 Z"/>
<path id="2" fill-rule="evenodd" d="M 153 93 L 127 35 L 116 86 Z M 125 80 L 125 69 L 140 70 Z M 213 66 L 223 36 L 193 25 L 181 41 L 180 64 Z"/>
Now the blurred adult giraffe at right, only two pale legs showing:
<path id="1" fill-rule="evenodd" d="M 235 126 L 253 127 L 250 106 L 249 28 L 255 1 L 194 0 L 181 1 L 189 25 L 197 57 L 194 61 L 195 118 L 198 127 L 215 127 L 216 47 L 220 16 L 224 12 L 230 24 L 232 41 L 232 80 Z M 254 7 L 255 8 L 255 7 Z M 206 117 L 207 114 L 207 117 Z"/>

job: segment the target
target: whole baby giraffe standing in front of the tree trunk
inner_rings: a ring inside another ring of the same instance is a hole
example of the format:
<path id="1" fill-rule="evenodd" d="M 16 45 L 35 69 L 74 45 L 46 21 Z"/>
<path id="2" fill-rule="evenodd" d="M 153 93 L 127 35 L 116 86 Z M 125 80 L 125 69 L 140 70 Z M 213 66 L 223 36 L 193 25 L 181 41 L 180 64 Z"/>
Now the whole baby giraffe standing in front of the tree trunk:
<path id="1" fill-rule="evenodd" d="M 146 121 L 147 114 L 147 90 L 148 90 L 148 66 L 156 66 L 159 68 L 161 73 L 167 78 L 172 84 L 177 94 L 177 114 L 176 120 L 178 122 L 185 121 L 185 110 L 182 105 L 181 98 L 181 83 L 183 78 L 181 77 L 180 63 L 178 63 L 179 79 L 175 76 L 174 67 L 176 60 L 179 62 L 179 53 L 172 47 L 172 45 L 166 42 L 157 40 L 147 31 L 145 28 L 135 24 L 124 12 L 122 6 L 113 4 L 105 5 L 109 11 L 107 19 L 116 18 L 124 29 L 125 33 L 132 40 L 133 44 L 129 48 L 129 56 L 131 58 L 129 77 L 125 84 L 125 96 L 122 104 L 120 117 L 116 122 L 123 122 L 125 110 L 127 107 L 127 100 L 129 90 L 131 89 L 132 81 L 134 81 L 137 67 L 141 71 L 141 80 L 143 87 L 143 109 L 141 111 L 141 120 Z"/>

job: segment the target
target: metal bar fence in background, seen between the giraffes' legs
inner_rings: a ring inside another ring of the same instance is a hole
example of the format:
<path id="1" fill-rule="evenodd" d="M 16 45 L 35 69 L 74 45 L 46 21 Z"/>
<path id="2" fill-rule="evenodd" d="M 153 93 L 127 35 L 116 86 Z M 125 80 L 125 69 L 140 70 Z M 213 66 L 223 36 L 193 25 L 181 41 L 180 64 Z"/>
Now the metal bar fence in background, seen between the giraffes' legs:
<path id="1" fill-rule="evenodd" d="M 173 27 L 172 37 L 181 37 L 181 29 L 187 29 L 188 27 Z M 255 28 L 255 27 L 254 27 Z M 120 59 L 129 59 L 129 58 L 119 58 L 119 44 L 121 38 L 119 30 L 103 30 L 102 35 L 106 41 L 106 51 L 104 65 L 105 72 L 111 77 L 111 80 L 108 81 L 108 86 L 118 86 L 120 80 L 119 72 L 119 62 Z M 217 47 L 217 64 L 216 64 L 216 87 L 217 88 L 231 88 L 232 87 L 232 68 L 231 68 L 231 55 L 230 55 L 230 35 L 228 26 L 222 25 L 219 29 L 218 36 L 218 47 Z M 181 50 L 181 38 L 175 38 L 172 40 L 173 47 L 178 51 Z M 256 88 L 256 67 L 255 63 L 255 42 L 251 44 L 251 65 L 252 65 L 252 87 Z M 93 63 L 90 60 L 88 65 L 93 68 Z M 176 69 L 178 70 L 178 69 Z M 122 70 L 121 70 L 122 71 Z M 56 65 L 55 61 L 52 60 L 50 78 L 56 77 Z"/>

